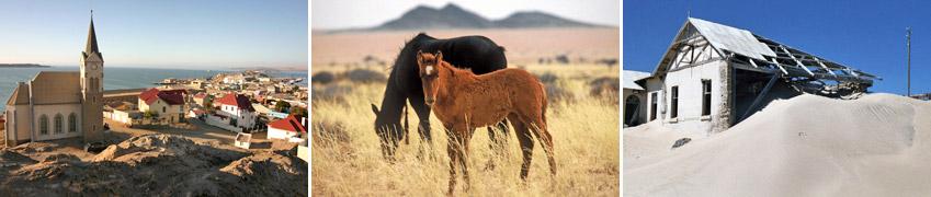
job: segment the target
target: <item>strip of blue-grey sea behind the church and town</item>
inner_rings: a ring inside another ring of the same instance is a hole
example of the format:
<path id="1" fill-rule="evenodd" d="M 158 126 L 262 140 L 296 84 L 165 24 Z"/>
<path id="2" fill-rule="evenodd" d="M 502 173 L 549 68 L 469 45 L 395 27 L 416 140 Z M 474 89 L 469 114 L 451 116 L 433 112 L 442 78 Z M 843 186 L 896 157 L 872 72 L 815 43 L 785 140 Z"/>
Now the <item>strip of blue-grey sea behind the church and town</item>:
<path id="1" fill-rule="evenodd" d="M 16 83 L 35 78 L 39 71 L 78 71 L 78 67 L 50 67 L 50 68 L 0 68 L 0 111 L 7 107 L 7 100 L 16 88 Z M 156 82 L 163 79 L 206 78 L 217 73 L 234 72 L 230 70 L 183 70 L 183 69 L 156 69 L 156 68 L 120 68 L 104 67 L 103 89 L 141 89 L 157 86 Z M 307 71 L 269 71 L 272 77 L 304 78 L 299 85 L 307 86 Z"/>

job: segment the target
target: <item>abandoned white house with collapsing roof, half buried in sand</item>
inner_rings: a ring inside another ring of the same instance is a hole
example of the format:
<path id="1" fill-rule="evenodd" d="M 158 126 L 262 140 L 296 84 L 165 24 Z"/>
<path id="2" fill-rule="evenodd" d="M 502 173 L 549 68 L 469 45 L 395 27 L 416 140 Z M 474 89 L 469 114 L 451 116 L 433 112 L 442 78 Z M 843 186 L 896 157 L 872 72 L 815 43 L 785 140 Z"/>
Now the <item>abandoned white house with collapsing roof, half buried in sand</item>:
<path id="1" fill-rule="evenodd" d="M 645 90 L 624 95 L 625 125 L 659 120 L 719 132 L 773 100 L 803 93 L 850 99 L 873 80 L 879 78 L 746 30 L 689 18 L 652 73 L 635 81 Z M 626 105 L 635 100 L 628 96 L 646 102 Z M 639 117 L 626 117 L 627 111 Z"/>

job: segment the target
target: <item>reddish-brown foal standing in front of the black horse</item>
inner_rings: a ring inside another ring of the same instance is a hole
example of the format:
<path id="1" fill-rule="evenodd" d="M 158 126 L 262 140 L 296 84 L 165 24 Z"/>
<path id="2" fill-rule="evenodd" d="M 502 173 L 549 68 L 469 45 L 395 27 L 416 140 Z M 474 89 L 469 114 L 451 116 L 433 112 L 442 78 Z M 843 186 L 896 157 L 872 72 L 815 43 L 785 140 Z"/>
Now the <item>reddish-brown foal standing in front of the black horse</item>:
<path id="1" fill-rule="evenodd" d="M 456 165 L 469 188 L 466 158 L 475 128 L 491 126 L 504 118 L 511 121 L 523 150 L 521 179 L 526 181 L 536 136 L 556 174 L 553 138 L 546 129 L 546 91 L 533 74 L 521 69 L 502 69 L 481 76 L 461 70 L 443 61 L 443 54 L 417 53 L 423 95 L 450 138 L 450 188 L 455 190 Z"/>

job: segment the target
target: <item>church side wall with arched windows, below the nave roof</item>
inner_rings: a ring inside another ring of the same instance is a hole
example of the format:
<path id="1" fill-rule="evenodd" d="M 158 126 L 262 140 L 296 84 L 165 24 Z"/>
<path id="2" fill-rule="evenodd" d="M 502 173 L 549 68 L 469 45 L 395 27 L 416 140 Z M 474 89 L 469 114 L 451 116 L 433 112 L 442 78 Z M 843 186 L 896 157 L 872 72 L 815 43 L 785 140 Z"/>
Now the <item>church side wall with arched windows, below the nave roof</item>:
<path id="1" fill-rule="evenodd" d="M 35 112 L 35 116 L 33 116 L 35 128 L 32 130 L 34 132 L 35 139 L 33 141 L 42 141 L 42 140 L 53 140 L 53 139 L 61 139 L 61 138 L 71 138 L 79 137 L 83 135 L 81 130 L 81 104 L 58 104 L 58 105 L 33 105 L 33 109 Z M 76 128 L 75 132 L 68 131 L 68 115 L 75 113 L 76 115 Z M 39 119 L 42 115 L 48 116 L 48 134 L 42 135 L 42 126 L 39 125 Z M 61 114 L 61 134 L 55 134 L 55 115 Z"/>

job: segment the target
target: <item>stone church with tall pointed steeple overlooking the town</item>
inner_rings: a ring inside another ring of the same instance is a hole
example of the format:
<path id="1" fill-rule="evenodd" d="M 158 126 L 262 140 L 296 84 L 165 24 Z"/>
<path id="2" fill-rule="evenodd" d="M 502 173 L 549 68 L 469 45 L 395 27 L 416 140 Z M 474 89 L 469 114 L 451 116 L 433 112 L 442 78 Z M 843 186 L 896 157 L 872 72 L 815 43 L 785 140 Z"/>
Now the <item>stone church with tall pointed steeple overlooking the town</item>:
<path id="1" fill-rule="evenodd" d="M 7 147 L 76 137 L 103 141 L 103 55 L 93 16 L 87 42 L 80 71 L 39 71 L 32 80 L 19 82 L 4 112 Z"/>

